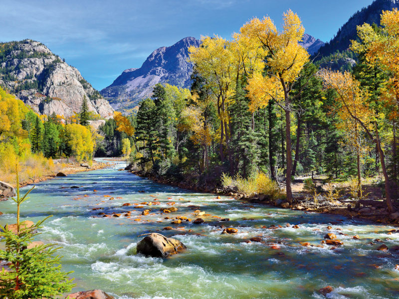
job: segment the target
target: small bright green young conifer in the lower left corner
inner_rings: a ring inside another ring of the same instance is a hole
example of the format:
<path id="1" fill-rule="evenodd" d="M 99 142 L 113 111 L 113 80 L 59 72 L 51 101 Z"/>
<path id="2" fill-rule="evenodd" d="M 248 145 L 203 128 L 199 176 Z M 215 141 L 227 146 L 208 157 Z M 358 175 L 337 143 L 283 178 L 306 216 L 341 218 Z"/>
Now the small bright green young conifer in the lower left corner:
<path id="1" fill-rule="evenodd" d="M 42 223 L 51 216 L 27 227 L 19 220 L 20 205 L 27 200 L 31 188 L 23 197 L 19 196 L 18 170 L 16 170 L 17 205 L 16 233 L 6 225 L 0 236 L 5 243 L 5 250 L 0 250 L 0 259 L 7 261 L 10 271 L 0 272 L 0 295 L 8 299 L 54 298 L 69 292 L 75 285 L 68 275 L 62 272 L 60 257 L 55 253 L 54 244 L 29 246 Z"/>

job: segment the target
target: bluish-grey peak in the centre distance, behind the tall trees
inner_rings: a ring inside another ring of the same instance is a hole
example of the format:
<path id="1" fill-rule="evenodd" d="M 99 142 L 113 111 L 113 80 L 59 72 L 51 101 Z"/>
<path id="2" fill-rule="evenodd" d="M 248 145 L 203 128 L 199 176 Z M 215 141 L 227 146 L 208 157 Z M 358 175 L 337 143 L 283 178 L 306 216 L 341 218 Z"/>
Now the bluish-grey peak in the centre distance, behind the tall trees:
<path id="1" fill-rule="evenodd" d="M 169 83 L 179 87 L 190 87 L 193 64 L 188 62 L 189 47 L 200 46 L 200 40 L 185 37 L 172 46 L 156 49 L 140 68 L 130 68 L 100 91 L 111 106 L 128 110 L 139 101 L 150 97 L 157 83 Z"/>

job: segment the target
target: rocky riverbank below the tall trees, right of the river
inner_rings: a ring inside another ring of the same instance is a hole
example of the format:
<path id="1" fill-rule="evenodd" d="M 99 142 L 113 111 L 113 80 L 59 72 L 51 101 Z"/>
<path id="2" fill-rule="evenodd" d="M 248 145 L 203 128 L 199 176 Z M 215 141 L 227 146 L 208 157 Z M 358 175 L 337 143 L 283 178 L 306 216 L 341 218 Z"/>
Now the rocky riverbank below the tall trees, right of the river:
<path id="1" fill-rule="evenodd" d="M 197 186 L 187 182 L 176 182 L 171 179 L 158 177 L 149 172 L 141 170 L 131 169 L 129 172 L 141 177 L 149 178 L 158 183 L 176 186 L 196 192 L 231 196 L 239 201 L 304 211 L 305 213 L 315 212 L 320 214 L 342 215 L 349 218 L 367 219 L 376 223 L 399 226 L 399 212 L 393 214 L 389 213 L 384 201 L 370 200 L 362 201 L 362 203 L 359 204 L 350 198 L 347 200 L 328 200 L 326 197 L 323 197 L 320 194 L 315 198 L 312 194 L 303 192 L 303 190 L 299 190 L 299 188 L 295 188 L 295 183 L 293 184 L 294 200 L 290 205 L 284 202 L 284 200 L 269 200 L 263 195 L 254 195 L 248 197 L 232 188 L 223 188 L 222 186 L 212 186 L 209 184 Z"/>

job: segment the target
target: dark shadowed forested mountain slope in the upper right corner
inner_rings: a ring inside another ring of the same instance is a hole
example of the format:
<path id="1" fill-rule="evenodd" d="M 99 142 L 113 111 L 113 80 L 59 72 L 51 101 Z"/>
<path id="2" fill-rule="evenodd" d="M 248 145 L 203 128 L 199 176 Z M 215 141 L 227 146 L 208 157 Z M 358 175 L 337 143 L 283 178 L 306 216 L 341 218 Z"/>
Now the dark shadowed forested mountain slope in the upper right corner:
<path id="1" fill-rule="evenodd" d="M 328 56 L 336 51 L 343 52 L 348 49 L 351 40 L 356 40 L 358 25 L 364 23 L 380 25 L 381 13 L 383 10 L 399 8 L 399 0 L 375 0 L 369 6 L 357 11 L 351 18 L 338 30 L 337 34 L 319 49 L 322 56 Z"/>

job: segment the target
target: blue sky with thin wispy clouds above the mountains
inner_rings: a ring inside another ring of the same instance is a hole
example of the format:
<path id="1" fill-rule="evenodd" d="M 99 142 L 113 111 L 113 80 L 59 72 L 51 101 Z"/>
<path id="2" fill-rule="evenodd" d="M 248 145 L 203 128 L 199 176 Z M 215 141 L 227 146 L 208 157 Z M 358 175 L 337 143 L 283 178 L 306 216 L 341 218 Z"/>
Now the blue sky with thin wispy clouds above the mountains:
<path id="1" fill-rule="evenodd" d="M 187 36 L 232 32 L 252 17 L 282 23 L 292 9 L 306 33 L 329 41 L 372 0 L 0 0 L 0 41 L 30 38 L 78 68 L 94 88 L 138 68 L 157 48 Z"/>

